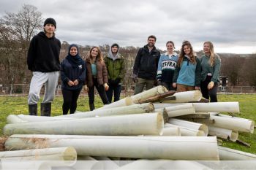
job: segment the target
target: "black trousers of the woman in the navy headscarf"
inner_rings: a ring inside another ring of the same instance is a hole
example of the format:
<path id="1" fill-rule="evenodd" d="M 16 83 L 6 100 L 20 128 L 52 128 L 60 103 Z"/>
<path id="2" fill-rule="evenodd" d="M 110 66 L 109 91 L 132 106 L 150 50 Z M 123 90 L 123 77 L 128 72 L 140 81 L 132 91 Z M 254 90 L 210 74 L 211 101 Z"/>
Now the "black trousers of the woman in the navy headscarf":
<path id="1" fill-rule="evenodd" d="M 82 89 L 67 90 L 62 88 L 61 90 L 62 90 L 62 96 L 63 96 L 63 104 L 62 104 L 63 115 L 67 115 L 68 112 L 70 112 L 70 114 L 74 113 L 75 110 L 77 109 L 78 96 Z"/>

